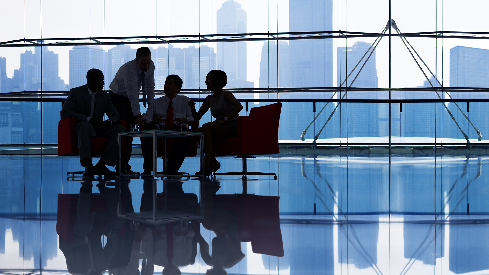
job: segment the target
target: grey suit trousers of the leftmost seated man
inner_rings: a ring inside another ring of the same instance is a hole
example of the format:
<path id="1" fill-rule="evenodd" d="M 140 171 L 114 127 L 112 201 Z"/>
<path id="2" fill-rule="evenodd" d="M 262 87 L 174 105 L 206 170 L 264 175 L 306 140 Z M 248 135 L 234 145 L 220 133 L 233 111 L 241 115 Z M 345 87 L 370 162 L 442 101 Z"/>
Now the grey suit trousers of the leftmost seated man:
<path id="1" fill-rule="evenodd" d="M 78 149 L 80 150 L 80 160 L 91 160 L 91 133 L 94 129 L 93 125 L 87 121 L 78 122 L 75 125 L 78 133 Z M 107 146 L 100 157 L 101 161 L 110 163 L 112 166 L 117 162 L 119 156 L 119 146 L 117 144 L 117 133 L 125 132 L 124 126 L 112 124 L 107 127 L 95 129 L 97 138 L 108 138 Z"/>

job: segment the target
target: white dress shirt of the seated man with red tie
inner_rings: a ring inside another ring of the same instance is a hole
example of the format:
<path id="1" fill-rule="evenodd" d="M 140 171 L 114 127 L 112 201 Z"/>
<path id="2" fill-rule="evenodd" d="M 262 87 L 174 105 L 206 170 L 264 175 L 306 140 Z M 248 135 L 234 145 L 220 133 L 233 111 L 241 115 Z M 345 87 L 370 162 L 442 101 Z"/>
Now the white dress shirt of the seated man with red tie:
<path id="1" fill-rule="evenodd" d="M 192 111 L 190 111 L 190 106 L 188 105 L 189 100 L 190 97 L 178 94 L 172 98 L 173 119 L 185 117 L 187 121 L 194 120 L 194 117 L 192 117 Z M 142 114 L 142 116 L 146 118 L 146 123 L 150 123 L 153 118 L 160 115 L 164 115 L 161 118 L 166 119 L 166 111 L 168 110 L 169 102 L 170 99 L 168 99 L 166 95 L 156 98 L 153 103 L 148 106 L 146 113 Z"/>

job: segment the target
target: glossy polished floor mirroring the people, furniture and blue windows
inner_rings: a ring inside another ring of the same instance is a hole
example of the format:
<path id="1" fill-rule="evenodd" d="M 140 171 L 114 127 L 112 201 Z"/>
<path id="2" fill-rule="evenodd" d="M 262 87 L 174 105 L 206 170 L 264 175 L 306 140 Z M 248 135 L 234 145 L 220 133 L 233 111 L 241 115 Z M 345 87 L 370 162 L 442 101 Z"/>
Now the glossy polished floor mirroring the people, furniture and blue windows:
<path id="1" fill-rule="evenodd" d="M 219 172 L 241 169 L 218 160 Z M 138 171 L 142 158 L 131 164 Z M 0 165 L 1 274 L 489 273 L 485 156 L 275 155 L 248 160 L 248 171 L 277 180 L 245 182 L 67 178 L 81 169 L 75 157 Z M 152 184 L 155 208 L 201 217 L 122 219 L 152 209 Z"/>

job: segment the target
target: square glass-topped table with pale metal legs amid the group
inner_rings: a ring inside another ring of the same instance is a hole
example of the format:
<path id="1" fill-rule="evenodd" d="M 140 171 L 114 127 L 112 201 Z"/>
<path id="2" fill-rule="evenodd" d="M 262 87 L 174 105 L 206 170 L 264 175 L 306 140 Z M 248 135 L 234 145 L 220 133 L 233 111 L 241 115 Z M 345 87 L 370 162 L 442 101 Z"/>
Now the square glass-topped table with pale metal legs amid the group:
<path id="1" fill-rule="evenodd" d="M 133 137 L 133 138 L 153 138 L 153 177 L 156 175 L 156 141 L 157 138 L 163 138 L 163 172 L 166 174 L 166 139 L 167 138 L 185 138 L 185 137 L 200 137 L 200 171 L 201 175 L 195 175 L 197 177 L 204 176 L 204 133 L 197 132 L 184 132 L 184 131 L 170 131 L 170 130 L 143 130 L 135 132 L 123 132 L 117 135 L 117 142 L 119 143 L 119 167 L 121 167 L 121 145 L 122 138 Z M 119 174 L 120 175 L 120 174 Z M 161 175 L 163 176 L 163 175 Z M 178 175 L 166 175 L 166 176 L 178 176 Z M 194 177 L 195 177 L 194 176 Z M 186 175 L 186 177 L 190 177 Z"/>

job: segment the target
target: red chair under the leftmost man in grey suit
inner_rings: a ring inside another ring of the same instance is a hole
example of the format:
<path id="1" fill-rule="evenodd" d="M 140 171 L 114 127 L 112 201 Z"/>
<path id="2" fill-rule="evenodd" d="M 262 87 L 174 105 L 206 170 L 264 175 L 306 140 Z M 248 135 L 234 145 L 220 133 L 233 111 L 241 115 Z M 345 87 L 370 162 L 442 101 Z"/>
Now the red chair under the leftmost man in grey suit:
<path id="1" fill-rule="evenodd" d="M 79 156 L 78 150 L 78 134 L 75 128 L 75 118 L 61 118 L 58 122 L 58 156 Z M 126 120 L 119 120 L 117 124 L 126 127 Z M 107 146 L 107 138 L 91 137 L 91 153 L 95 158 L 100 157 Z M 124 150 L 124 146 L 122 146 Z M 123 151 L 124 152 L 124 151 Z M 83 174 L 83 171 L 68 172 L 68 174 Z"/>

